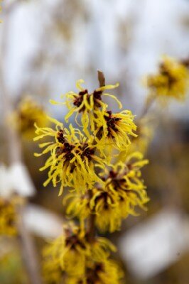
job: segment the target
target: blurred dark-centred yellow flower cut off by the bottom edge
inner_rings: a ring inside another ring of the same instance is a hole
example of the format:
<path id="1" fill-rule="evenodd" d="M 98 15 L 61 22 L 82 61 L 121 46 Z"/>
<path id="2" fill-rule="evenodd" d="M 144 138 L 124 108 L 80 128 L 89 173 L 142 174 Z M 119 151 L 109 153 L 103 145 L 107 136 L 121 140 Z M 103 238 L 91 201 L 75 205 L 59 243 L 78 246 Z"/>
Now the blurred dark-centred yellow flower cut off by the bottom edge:
<path id="1" fill-rule="evenodd" d="M 119 284 L 123 272 L 118 264 L 112 260 L 87 261 L 85 277 L 69 277 L 66 284 Z"/>

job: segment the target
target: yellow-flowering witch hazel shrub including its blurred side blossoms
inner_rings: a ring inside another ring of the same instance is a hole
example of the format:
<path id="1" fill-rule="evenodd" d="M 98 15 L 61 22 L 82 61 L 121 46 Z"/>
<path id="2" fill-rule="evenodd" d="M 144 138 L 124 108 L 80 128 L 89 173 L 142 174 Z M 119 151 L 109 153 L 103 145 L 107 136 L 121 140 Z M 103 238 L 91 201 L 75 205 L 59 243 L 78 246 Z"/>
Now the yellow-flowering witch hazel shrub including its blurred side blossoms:
<path id="1" fill-rule="evenodd" d="M 78 92 L 68 92 L 63 102 L 50 100 L 68 107 L 63 121 L 46 116 L 31 98 L 23 99 L 12 114 L 14 129 L 21 136 L 31 138 L 36 131 L 34 141 L 40 141 L 41 153 L 35 155 L 48 155 L 40 169 L 48 170 L 43 185 L 60 188 L 65 214 L 72 219 L 63 225 L 63 234 L 43 249 L 45 283 L 122 283 L 124 273 L 112 259 L 116 247 L 101 234 L 120 230 L 126 217 L 147 209 L 149 198 L 141 170 L 148 164 L 144 155 L 154 133 L 148 110 L 156 99 L 163 103 L 169 98 L 185 99 L 188 66 L 188 60 L 163 58 L 157 74 L 146 77 L 148 96 L 136 118 L 107 93 L 119 84 L 106 85 L 102 72 L 95 91 L 89 92 L 79 80 Z M 117 112 L 109 108 L 106 97 L 117 104 Z M 74 126 L 71 119 L 75 119 Z M 1 196 L 0 236 L 21 239 L 18 205 L 25 201 L 12 193 L 9 198 Z"/>

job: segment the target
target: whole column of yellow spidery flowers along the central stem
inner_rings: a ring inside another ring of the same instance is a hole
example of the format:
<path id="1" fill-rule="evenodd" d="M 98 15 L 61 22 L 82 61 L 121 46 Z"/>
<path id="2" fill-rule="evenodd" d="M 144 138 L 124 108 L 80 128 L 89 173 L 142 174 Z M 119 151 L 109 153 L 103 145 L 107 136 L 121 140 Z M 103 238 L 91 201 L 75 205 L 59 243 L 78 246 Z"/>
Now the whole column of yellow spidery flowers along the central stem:
<path id="1" fill-rule="evenodd" d="M 64 198 L 67 214 L 80 219 L 79 227 L 68 225 L 63 236 L 45 249 L 47 282 L 54 278 L 60 283 L 60 278 L 65 278 L 66 283 L 119 283 L 121 278 L 117 263 L 109 259 L 112 245 L 95 232 L 91 238 L 92 224 L 87 226 L 94 222 L 99 231 L 113 232 L 120 229 L 122 219 L 137 214 L 137 206 L 145 209 L 148 202 L 140 170 L 148 161 L 139 152 L 128 154 L 131 137 L 136 137 L 134 116 L 128 110 L 113 114 L 103 101 L 109 96 L 121 108 L 116 97 L 104 92 L 117 86 L 105 85 L 90 94 L 78 81 L 79 92 L 65 95 L 70 110 L 65 122 L 75 114 L 80 129 L 72 124 L 66 128 L 52 118 L 55 129 L 36 125 L 35 141 L 51 138 L 39 144 L 45 149 L 36 154 L 50 153 L 41 168 L 49 168 L 44 185 L 60 182 L 60 195 L 68 187 Z"/>

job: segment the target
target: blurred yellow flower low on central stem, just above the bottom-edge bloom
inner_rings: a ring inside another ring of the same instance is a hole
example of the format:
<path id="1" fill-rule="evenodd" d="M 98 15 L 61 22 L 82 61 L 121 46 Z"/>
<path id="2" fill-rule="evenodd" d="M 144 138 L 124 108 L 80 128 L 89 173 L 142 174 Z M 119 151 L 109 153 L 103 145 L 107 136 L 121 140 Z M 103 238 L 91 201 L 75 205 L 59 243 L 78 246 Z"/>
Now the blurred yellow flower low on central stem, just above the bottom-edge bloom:
<path id="1" fill-rule="evenodd" d="M 63 235 L 43 251 L 45 282 L 60 283 L 65 273 L 73 278 L 84 277 L 88 259 L 105 262 L 110 251 L 115 251 L 112 243 L 105 238 L 96 237 L 92 243 L 87 239 L 87 234 L 83 234 L 78 226 L 71 223 L 64 227 Z"/>

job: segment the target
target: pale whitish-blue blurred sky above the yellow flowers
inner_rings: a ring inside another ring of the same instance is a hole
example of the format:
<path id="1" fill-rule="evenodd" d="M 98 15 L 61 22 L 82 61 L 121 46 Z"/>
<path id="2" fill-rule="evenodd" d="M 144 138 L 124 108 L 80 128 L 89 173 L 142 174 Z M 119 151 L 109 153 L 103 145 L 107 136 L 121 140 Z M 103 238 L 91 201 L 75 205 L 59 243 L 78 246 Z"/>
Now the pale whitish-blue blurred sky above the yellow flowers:
<path id="1" fill-rule="evenodd" d="M 4 2 L 7 6 L 11 1 Z M 88 72 L 92 66 L 94 71 L 104 71 L 107 82 L 119 81 L 121 87 L 126 87 L 125 92 L 129 89 L 125 96 L 133 99 L 137 112 L 146 93 L 141 78 L 156 70 L 161 55 L 178 58 L 189 55 L 188 0 L 78 1 L 87 21 L 78 10 L 68 17 L 72 26 L 69 45 L 58 36 L 46 36 L 60 2 L 65 0 L 21 1 L 9 16 L 8 30 L 2 13 L 0 39 L 3 36 L 7 40 L 4 70 L 12 96 L 26 92 L 28 82 L 35 86 L 43 80 L 44 84 L 48 82 L 51 97 L 56 99 L 73 89 L 75 80 L 80 78 L 95 88 L 96 74 Z M 66 7 L 62 15 L 67 15 Z M 31 62 L 43 53 L 48 54 L 48 62 L 36 72 Z M 56 55 L 63 58 L 64 65 L 53 64 Z M 175 107 L 176 114 L 179 116 L 182 111 L 183 116 L 188 101 L 185 107 L 173 103 L 173 112 Z"/>

